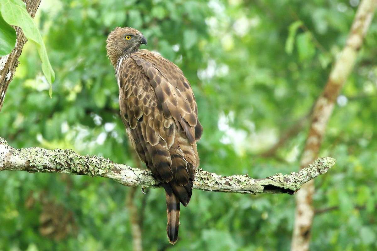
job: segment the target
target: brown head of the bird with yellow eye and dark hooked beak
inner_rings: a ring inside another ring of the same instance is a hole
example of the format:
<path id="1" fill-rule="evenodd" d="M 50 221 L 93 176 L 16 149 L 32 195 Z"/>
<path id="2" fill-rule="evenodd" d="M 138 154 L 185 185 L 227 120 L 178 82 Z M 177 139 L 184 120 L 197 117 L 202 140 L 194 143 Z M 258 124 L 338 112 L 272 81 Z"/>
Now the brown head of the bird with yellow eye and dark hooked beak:
<path id="1" fill-rule="evenodd" d="M 116 27 L 106 40 L 107 56 L 115 67 L 121 56 L 130 56 L 137 52 L 142 44 L 147 44 L 147 39 L 136 29 L 130 27 Z"/>

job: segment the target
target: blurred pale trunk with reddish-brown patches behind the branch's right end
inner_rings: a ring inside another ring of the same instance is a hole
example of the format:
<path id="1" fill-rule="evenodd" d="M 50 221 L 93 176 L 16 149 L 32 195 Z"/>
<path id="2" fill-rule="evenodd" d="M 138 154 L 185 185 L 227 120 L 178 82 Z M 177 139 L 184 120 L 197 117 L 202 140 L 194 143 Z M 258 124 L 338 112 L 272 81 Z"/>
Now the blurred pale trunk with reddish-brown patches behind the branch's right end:
<path id="1" fill-rule="evenodd" d="M 346 46 L 343 48 L 342 54 L 331 70 L 325 89 L 314 106 L 309 134 L 300 161 L 301 169 L 312 163 L 319 154 L 327 122 L 333 112 L 336 98 L 352 70 L 357 52 L 362 46 L 363 38 L 375 11 L 376 2 L 376 0 L 363 0 L 360 3 L 346 41 Z M 309 249 L 314 216 L 312 205 L 313 193 L 314 184 L 313 182 L 308 182 L 302 186 L 302 189 L 297 192 L 295 197 L 296 212 L 291 251 L 306 251 Z"/>

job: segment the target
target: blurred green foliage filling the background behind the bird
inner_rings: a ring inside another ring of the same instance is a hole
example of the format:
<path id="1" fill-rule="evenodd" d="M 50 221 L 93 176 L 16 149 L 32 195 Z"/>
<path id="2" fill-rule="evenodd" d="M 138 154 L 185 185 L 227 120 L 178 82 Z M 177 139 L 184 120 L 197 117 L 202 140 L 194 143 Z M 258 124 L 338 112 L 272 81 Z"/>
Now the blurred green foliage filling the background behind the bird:
<path id="1" fill-rule="evenodd" d="M 53 96 L 26 43 L 0 113 L 16 148 L 71 148 L 137 166 L 118 116 L 105 40 L 139 29 L 147 49 L 193 86 L 204 127 L 201 167 L 254 178 L 298 170 L 307 125 L 262 154 L 310 113 L 345 44 L 359 0 L 42 0 L 35 21 L 56 73 Z M 377 249 L 377 22 L 328 124 L 316 179 L 311 250 Z M 126 195 L 103 178 L 0 173 L 0 250 L 132 250 Z M 193 191 L 179 240 L 166 238 L 162 189 L 137 192 L 145 250 L 288 250 L 294 197 Z"/>

